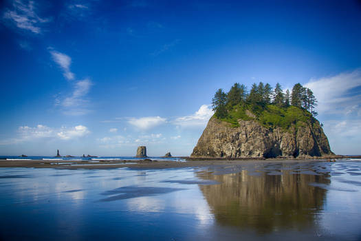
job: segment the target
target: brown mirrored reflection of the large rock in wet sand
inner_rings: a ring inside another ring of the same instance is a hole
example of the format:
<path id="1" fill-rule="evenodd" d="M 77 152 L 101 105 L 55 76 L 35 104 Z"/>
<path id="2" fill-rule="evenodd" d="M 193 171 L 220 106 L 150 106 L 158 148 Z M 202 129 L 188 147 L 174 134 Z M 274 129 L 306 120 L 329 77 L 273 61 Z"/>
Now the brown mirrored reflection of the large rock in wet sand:
<path id="1" fill-rule="evenodd" d="M 295 174 L 280 168 L 282 175 L 198 174 L 219 185 L 199 185 L 208 205 L 221 225 L 253 228 L 261 233 L 278 229 L 302 230 L 314 227 L 327 190 L 309 186 L 310 182 L 329 184 L 327 174 Z"/>

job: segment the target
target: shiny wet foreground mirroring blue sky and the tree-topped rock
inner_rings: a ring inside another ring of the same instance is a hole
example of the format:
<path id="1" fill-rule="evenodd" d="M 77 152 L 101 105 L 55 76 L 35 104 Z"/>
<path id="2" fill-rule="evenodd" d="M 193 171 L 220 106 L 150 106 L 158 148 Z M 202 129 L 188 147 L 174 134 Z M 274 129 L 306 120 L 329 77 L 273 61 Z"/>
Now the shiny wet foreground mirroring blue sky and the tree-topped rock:
<path id="1" fill-rule="evenodd" d="M 361 161 L 0 168 L 0 240 L 361 240 Z"/>

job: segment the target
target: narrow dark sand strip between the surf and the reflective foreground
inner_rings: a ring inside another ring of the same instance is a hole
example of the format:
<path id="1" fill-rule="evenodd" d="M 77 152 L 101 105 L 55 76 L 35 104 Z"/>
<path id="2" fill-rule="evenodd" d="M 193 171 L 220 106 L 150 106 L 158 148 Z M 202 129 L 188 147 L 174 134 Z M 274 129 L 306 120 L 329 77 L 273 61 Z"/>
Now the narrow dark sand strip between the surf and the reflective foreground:
<path id="1" fill-rule="evenodd" d="M 100 160 L 91 163 L 82 160 L 0 160 L 0 167 L 30 167 L 55 169 L 113 169 L 129 167 L 131 169 L 166 169 L 183 167 L 239 166 L 256 163 L 303 163 L 310 161 L 329 161 L 328 159 L 267 159 L 267 160 L 190 160 L 177 161 L 146 161 L 146 160 Z"/>

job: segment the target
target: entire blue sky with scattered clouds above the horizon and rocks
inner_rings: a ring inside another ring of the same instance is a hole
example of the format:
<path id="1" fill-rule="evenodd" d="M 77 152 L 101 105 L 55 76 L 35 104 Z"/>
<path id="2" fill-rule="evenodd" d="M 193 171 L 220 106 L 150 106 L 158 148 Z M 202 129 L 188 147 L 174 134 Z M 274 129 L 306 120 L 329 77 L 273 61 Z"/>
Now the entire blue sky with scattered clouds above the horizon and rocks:
<path id="1" fill-rule="evenodd" d="M 2 1 L 1 155 L 191 153 L 218 88 L 302 83 L 360 154 L 359 1 Z"/>

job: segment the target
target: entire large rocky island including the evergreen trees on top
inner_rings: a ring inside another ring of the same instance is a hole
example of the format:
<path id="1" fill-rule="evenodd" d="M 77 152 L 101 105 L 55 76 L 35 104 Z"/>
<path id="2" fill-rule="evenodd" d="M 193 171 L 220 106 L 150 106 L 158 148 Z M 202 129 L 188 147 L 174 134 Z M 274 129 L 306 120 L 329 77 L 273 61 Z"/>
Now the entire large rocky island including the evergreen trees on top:
<path id="1" fill-rule="evenodd" d="M 272 100 L 273 96 L 273 100 Z M 310 158 L 333 156 L 322 125 L 315 118 L 311 90 L 299 83 L 292 95 L 277 84 L 234 84 L 212 100 L 214 116 L 191 158 Z"/>

